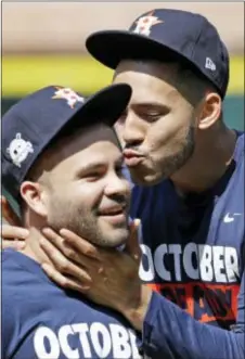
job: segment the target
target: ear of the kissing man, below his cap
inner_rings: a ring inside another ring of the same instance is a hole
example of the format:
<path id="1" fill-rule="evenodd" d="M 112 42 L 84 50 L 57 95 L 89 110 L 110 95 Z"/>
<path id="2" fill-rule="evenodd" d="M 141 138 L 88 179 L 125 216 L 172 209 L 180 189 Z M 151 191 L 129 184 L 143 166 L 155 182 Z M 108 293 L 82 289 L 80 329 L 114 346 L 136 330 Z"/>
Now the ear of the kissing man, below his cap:
<path id="1" fill-rule="evenodd" d="M 201 110 L 198 129 L 210 128 L 219 120 L 222 111 L 222 100 L 216 92 L 207 93 Z"/>

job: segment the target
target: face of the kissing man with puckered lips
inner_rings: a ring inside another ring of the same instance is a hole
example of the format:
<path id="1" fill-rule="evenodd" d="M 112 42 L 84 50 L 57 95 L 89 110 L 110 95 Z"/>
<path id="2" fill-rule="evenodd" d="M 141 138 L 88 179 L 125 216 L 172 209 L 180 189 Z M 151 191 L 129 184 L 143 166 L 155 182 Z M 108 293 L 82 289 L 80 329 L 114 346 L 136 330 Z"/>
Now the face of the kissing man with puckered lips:
<path id="1" fill-rule="evenodd" d="M 194 152 L 195 100 L 186 100 L 177 81 L 177 68 L 170 64 L 122 61 L 116 69 L 114 82 L 126 82 L 133 90 L 115 128 L 125 144 L 126 165 L 139 184 L 152 185 L 172 176 Z"/>

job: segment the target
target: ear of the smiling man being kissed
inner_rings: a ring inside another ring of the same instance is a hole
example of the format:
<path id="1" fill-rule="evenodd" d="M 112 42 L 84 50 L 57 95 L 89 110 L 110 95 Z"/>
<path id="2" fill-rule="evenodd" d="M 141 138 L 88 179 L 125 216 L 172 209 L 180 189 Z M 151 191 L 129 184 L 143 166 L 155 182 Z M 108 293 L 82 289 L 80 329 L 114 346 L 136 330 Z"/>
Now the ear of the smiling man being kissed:
<path id="1" fill-rule="evenodd" d="M 40 183 L 24 181 L 21 184 L 21 195 L 33 211 L 41 217 L 47 217 L 44 191 Z"/>

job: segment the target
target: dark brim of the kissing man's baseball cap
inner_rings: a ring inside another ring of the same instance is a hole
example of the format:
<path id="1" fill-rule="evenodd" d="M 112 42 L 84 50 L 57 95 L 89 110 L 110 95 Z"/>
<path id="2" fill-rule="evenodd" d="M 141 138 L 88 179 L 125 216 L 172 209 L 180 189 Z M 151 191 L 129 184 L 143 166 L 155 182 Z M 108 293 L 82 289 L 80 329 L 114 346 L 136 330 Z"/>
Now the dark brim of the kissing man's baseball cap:
<path id="1" fill-rule="evenodd" d="M 89 53 L 105 66 L 115 69 L 121 60 L 151 59 L 192 62 L 173 47 L 168 47 L 144 35 L 128 30 L 103 30 L 91 34 L 86 40 Z"/>

